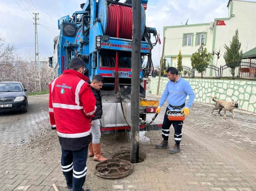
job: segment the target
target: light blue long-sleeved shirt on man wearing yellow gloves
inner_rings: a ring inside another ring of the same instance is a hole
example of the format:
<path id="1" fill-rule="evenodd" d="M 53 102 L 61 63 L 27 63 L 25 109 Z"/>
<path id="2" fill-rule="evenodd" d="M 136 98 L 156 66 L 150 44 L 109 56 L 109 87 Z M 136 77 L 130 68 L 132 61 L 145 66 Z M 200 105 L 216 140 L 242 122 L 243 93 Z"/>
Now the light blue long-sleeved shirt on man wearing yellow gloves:
<path id="1" fill-rule="evenodd" d="M 159 101 L 159 106 L 161 107 L 162 105 L 164 105 L 166 99 L 168 100 L 168 103 L 172 106 L 180 106 L 186 102 L 187 95 L 189 95 L 188 103 L 183 108 L 190 108 L 193 104 L 193 101 L 195 99 L 195 93 L 192 87 L 190 86 L 188 81 L 184 80 L 181 77 L 175 83 L 173 83 L 172 81 L 168 81 L 163 95 Z M 168 108 L 170 110 L 173 110 L 173 108 L 171 108 L 169 104 Z M 180 110 L 182 110 L 183 108 L 181 108 Z"/>

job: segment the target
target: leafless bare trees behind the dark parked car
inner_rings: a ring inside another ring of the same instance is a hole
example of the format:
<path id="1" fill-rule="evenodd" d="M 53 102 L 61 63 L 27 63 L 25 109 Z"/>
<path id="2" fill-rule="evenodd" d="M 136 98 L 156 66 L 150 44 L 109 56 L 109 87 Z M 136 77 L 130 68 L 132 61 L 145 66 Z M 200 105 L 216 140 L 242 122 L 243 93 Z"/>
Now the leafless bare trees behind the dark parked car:
<path id="1" fill-rule="evenodd" d="M 11 44 L 5 45 L 5 39 L 0 37 L 0 81 L 20 81 L 32 92 L 35 91 L 35 78 L 38 78 L 40 72 L 41 89 L 47 90 L 53 80 L 53 70 L 48 64 L 48 61 L 39 61 L 39 70 L 35 74 L 35 55 L 20 57 L 16 53 L 16 47 Z M 36 88 L 39 90 L 39 83 Z"/>

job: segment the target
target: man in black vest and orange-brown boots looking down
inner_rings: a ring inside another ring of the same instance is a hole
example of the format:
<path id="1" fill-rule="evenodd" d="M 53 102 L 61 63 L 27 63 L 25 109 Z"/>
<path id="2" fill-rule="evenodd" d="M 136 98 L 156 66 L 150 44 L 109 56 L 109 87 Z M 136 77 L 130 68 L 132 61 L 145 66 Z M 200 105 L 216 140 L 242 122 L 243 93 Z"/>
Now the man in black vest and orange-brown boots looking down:
<path id="1" fill-rule="evenodd" d="M 94 75 L 91 82 L 92 92 L 96 98 L 96 113 L 91 119 L 92 142 L 89 144 L 89 157 L 96 161 L 108 160 L 104 158 L 100 150 L 100 119 L 102 116 L 102 101 L 100 89 L 104 84 L 104 78 L 101 75 Z"/>

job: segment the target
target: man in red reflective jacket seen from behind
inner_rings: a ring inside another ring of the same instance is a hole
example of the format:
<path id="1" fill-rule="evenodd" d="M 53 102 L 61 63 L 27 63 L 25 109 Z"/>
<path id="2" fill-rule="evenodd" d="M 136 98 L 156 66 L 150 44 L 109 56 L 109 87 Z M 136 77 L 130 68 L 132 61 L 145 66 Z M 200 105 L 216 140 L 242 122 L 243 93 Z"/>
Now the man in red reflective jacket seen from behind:
<path id="1" fill-rule="evenodd" d="M 69 70 L 49 85 L 50 123 L 59 137 L 68 191 L 84 191 L 88 145 L 92 141 L 90 121 L 96 112 L 96 99 L 84 71 L 85 62 L 75 57 Z"/>

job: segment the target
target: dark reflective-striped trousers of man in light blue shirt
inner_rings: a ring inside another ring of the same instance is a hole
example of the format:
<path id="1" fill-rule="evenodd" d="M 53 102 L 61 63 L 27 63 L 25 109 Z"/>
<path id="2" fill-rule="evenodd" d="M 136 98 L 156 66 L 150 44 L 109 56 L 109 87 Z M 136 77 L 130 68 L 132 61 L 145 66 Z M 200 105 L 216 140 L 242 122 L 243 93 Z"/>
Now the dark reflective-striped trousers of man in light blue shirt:
<path id="1" fill-rule="evenodd" d="M 169 133 L 170 133 L 170 126 L 171 124 L 174 127 L 174 140 L 177 145 L 181 142 L 182 137 L 182 124 L 183 121 L 170 121 L 168 119 L 168 116 L 166 112 L 170 110 L 168 107 L 166 108 L 165 114 L 164 114 L 164 121 L 162 125 L 162 137 L 164 138 L 164 141 L 168 141 Z"/>

